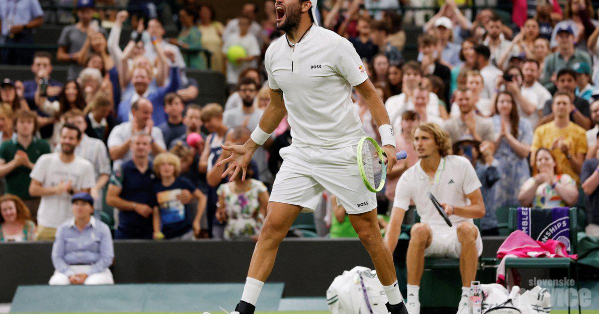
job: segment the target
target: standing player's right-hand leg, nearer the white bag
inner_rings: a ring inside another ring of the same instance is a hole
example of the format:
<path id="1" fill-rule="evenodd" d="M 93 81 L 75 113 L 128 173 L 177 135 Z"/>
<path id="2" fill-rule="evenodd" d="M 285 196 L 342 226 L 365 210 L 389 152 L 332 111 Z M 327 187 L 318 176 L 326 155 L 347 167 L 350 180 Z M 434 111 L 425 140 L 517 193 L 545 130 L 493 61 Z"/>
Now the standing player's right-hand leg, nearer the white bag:
<path id="1" fill-rule="evenodd" d="M 370 254 L 380 283 L 385 288 L 385 294 L 389 299 L 389 303 L 386 304 L 387 309 L 392 314 L 407 314 L 408 312 L 397 284 L 393 256 L 385 245 L 383 237 L 380 235 L 376 209 L 363 214 L 351 214 L 349 215 L 349 221 L 352 223 L 353 229 L 358 233 L 362 245 L 364 245 L 364 248 Z"/>

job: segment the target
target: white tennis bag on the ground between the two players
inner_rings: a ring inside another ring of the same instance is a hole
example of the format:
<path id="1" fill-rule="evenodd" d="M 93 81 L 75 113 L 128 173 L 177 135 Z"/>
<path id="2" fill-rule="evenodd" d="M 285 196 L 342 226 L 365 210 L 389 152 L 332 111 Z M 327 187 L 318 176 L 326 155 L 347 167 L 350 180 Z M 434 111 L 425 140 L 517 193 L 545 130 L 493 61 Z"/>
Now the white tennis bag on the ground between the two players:
<path id="1" fill-rule="evenodd" d="M 332 314 L 388 314 L 387 295 L 376 270 L 356 266 L 337 276 L 326 290 Z"/>

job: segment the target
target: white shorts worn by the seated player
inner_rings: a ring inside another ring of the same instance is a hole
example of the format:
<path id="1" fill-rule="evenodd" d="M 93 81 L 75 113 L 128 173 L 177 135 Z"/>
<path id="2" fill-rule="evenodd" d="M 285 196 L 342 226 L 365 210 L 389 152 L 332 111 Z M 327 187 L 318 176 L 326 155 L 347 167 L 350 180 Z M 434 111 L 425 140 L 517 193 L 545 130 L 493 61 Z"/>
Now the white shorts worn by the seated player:
<path id="1" fill-rule="evenodd" d="M 424 249 L 425 257 L 436 258 L 459 258 L 462 253 L 462 243 L 458 240 L 458 226 L 430 226 L 432 230 L 432 242 L 428 248 Z M 480 237 L 480 231 L 476 237 L 476 251 L 478 256 L 483 252 L 483 240 Z"/>

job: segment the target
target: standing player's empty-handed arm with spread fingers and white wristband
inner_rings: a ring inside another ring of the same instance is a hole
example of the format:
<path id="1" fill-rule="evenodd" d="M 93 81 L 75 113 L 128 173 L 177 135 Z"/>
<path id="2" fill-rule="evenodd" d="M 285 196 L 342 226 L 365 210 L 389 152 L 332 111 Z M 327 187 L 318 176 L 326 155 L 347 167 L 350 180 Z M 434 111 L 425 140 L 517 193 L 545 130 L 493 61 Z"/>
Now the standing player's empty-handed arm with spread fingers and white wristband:
<path id="1" fill-rule="evenodd" d="M 245 181 L 247 165 L 252 160 L 254 152 L 260 145 L 264 144 L 265 141 L 265 138 L 262 138 L 264 141 L 258 138 L 270 136 L 270 134 L 274 132 L 274 129 L 279 126 L 281 120 L 285 117 L 285 114 L 287 114 L 287 109 L 285 109 L 285 102 L 283 102 L 283 91 L 280 89 L 271 89 L 270 102 L 266 109 L 264 109 L 264 114 L 262 114 L 258 127 L 256 127 L 256 130 L 252 133 L 252 136 L 247 140 L 246 144 L 230 146 L 222 145 L 223 150 L 231 152 L 231 156 L 216 164 L 216 166 L 220 166 L 223 163 L 229 164 L 229 167 L 223 172 L 222 178 L 225 178 L 226 175 L 232 173 L 229 181 L 233 181 L 241 170 L 241 180 Z M 257 143 L 256 141 L 260 143 Z M 393 154 L 395 154 L 395 151 Z"/>

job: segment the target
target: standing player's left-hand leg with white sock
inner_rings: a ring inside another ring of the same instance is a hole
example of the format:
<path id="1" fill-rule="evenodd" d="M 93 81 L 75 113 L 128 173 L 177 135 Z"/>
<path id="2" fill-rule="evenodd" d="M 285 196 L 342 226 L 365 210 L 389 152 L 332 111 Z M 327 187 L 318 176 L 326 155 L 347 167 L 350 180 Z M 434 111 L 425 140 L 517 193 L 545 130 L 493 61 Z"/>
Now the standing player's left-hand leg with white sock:
<path id="1" fill-rule="evenodd" d="M 268 202 L 268 214 L 252 254 L 246 286 L 243 288 L 240 303 L 235 307 L 236 311 L 241 314 L 252 314 L 256 309 L 256 301 L 262 285 L 273 270 L 279 244 L 287 235 L 301 209 L 301 206 L 297 205 Z"/>

